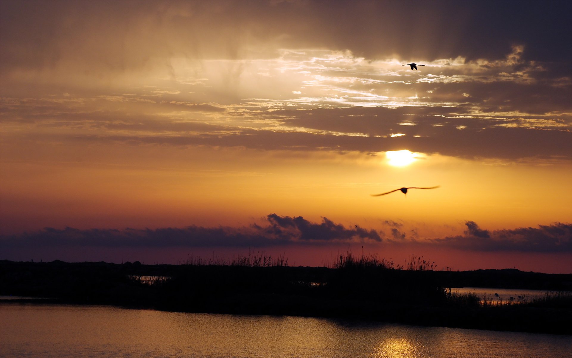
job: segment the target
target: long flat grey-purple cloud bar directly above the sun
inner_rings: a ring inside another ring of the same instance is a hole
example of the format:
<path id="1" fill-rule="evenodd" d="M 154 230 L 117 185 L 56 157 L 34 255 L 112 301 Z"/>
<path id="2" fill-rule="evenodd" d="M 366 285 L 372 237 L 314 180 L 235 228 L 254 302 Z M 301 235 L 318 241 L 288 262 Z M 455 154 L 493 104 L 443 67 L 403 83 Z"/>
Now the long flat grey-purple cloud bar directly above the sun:
<path id="1" fill-rule="evenodd" d="M 130 144 L 210 145 L 260 150 L 331 150 L 380 152 L 410 150 L 462 158 L 570 159 L 572 132 L 528 128 L 490 128 L 480 131 L 456 129 L 453 125 L 435 129 L 431 137 L 360 137 L 328 133 L 263 131 L 244 129 L 228 135 L 200 136 L 76 136 L 85 141 L 118 141 Z"/>

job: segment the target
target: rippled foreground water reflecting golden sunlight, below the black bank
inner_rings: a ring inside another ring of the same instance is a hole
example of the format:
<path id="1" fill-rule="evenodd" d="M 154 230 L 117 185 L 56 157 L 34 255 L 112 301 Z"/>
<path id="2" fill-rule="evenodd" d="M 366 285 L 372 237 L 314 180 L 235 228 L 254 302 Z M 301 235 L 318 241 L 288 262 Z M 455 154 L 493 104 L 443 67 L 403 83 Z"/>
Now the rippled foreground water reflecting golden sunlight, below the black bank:
<path id="1" fill-rule="evenodd" d="M 570 357 L 572 337 L 233 316 L 111 306 L 0 303 L 2 357 Z"/>

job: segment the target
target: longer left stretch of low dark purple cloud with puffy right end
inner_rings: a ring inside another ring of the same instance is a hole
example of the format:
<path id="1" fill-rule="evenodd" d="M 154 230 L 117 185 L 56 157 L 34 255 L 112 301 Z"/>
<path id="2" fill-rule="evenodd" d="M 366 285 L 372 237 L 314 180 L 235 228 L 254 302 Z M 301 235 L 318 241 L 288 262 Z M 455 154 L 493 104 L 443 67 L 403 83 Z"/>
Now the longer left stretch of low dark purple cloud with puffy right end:
<path id="1" fill-rule="evenodd" d="M 4 235 L 0 247 L 246 247 L 295 244 L 381 242 L 376 230 L 346 228 L 327 218 L 321 223 L 303 217 L 267 216 L 265 225 L 249 227 L 167 227 L 161 229 L 46 228 L 33 233 Z"/>

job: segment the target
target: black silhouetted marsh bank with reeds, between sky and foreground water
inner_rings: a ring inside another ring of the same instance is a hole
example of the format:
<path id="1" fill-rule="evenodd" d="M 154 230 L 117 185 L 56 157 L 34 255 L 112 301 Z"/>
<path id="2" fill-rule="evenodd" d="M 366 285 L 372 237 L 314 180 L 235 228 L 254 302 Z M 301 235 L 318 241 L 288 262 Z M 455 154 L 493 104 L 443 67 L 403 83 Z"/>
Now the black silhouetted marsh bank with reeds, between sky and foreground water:
<path id="1" fill-rule="evenodd" d="M 0 294 L 52 302 L 565 334 L 572 334 L 570 293 L 493 302 L 451 287 L 526 282 L 528 288 L 561 289 L 571 281 L 572 275 L 518 270 L 451 272 L 415 255 L 398 264 L 351 251 L 332 258 L 329 267 L 292 267 L 284 255 L 254 250 L 231 259 L 191 255 L 179 265 L 0 261 Z"/>

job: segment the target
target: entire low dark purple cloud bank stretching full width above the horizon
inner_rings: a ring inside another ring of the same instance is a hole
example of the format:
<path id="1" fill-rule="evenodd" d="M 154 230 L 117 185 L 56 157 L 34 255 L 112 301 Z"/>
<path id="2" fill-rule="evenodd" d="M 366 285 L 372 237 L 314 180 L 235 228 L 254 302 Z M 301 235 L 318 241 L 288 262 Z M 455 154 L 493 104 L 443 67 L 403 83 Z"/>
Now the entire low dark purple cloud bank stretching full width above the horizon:
<path id="1" fill-rule="evenodd" d="M 468 251 L 572 252 L 570 223 L 489 231 L 468 221 L 463 235 L 410 240 L 395 227 L 390 229 L 391 237 L 385 237 L 379 230 L 367 230 L 357 225 L 345 227 L 327 218 L 316 223 L 303 217 L 269 214 L 266 219 L 265 225 L 253 224 L 249 227 L 189 226 L 154 230 L 46 228 L 33 233 L 4 235 L 0 237 L 0 247 L 6 250 L 16 247 L 272 247 L 380 243 L 383 239 L 390 244 L 424 243 Z M 390 226 L 395 226 L 394 224 L 389 222 Z"/>

